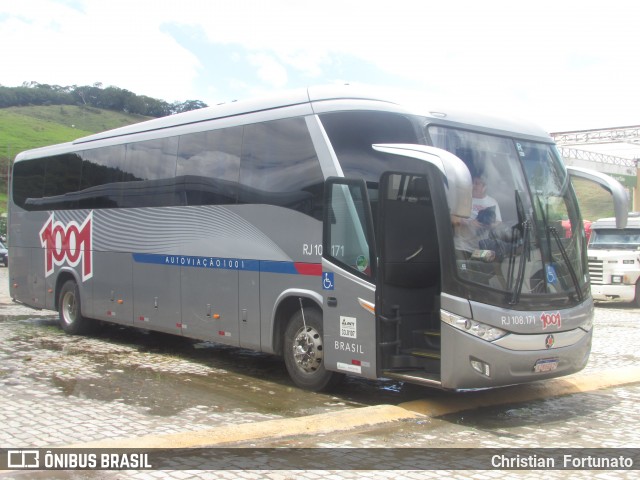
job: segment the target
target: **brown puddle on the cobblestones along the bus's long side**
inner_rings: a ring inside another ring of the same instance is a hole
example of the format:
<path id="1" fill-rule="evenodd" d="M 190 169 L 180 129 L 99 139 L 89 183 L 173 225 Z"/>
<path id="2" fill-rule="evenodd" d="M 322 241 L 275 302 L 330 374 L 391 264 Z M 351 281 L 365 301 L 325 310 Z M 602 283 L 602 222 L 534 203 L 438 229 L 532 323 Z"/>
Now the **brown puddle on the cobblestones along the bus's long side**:
<path id="1" fill-rule="evenodd" d="M 28 354 L 24 359 L 34 364 L 32 376 L 51 381 L 67 396 L 124 403 L 150 415 L 206 407 L 208 414 L 302 416 L 406 402 L 426 391 L 347 377 L 330 394 L 308 392 L 294 386 L 282 359 L 273 355 L 118 325 L 105 324 L 81 337 L 64 334 L 55 318 L 13 321 L 17 325 L 9 341 Z M 36 349 L 49 352 L 48 368 L 37 368 Z"/>

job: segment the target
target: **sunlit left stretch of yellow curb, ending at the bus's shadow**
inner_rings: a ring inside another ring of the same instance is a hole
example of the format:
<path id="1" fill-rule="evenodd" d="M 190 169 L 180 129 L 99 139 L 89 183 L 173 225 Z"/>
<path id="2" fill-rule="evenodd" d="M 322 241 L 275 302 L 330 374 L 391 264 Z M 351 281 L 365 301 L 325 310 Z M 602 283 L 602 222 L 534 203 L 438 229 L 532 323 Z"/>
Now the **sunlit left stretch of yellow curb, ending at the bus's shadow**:
<path id="1" fill-rule="evenodd" d="M 306 417 L 267 420 L 166 435 L 108 439 L 68 445 L 65 448 L 192 448 L 276 439 L 293 435 L 318 435 L 379 425 L 422 415 L 393 405 L 376 405 Z"/>

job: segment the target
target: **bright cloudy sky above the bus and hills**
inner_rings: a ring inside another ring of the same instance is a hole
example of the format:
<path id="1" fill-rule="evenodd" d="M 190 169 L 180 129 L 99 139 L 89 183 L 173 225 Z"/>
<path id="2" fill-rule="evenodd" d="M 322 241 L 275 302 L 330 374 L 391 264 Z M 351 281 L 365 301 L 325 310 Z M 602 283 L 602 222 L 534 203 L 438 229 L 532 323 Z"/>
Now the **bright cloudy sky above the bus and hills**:
<path id="1" fill-rule="evenodd" d="M 0 84 L 209 105 L 351 83 L 550 132 L 640 125 L 640 3 L 0 0 Z"/>

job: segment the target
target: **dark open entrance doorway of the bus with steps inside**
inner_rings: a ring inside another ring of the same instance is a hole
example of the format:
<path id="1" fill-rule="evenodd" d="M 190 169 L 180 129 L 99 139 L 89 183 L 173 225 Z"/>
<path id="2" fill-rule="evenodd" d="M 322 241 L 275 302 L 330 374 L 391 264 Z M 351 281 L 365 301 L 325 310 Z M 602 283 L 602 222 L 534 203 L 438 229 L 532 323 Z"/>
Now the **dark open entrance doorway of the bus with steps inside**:
<path id="1" fill-rule="evenodd" d="M 382 175 L 376 237 L 381 375 L 440 379 L 440 250 L 427 174 Z"/>

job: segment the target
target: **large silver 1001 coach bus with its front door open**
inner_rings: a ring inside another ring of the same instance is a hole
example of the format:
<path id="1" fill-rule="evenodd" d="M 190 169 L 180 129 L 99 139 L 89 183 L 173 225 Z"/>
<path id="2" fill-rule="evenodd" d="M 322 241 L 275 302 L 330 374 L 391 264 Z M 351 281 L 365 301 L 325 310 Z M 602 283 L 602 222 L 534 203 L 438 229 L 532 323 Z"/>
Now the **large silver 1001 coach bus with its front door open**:
<path id="1" fill-rule="evenodd" d="M 623 226 L 620 185 L 572 173 Z M 486 388 L 588 360 L 582 219 L 528 124 L 312 88 L 23 152 L 9 210 L 11 295 L 71 334 L 100 320 L 282 355 L 311 390 Z"/>

